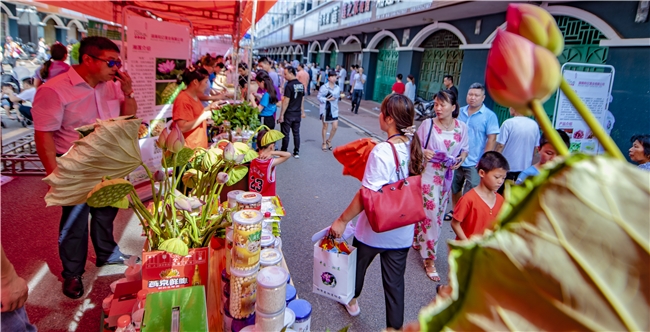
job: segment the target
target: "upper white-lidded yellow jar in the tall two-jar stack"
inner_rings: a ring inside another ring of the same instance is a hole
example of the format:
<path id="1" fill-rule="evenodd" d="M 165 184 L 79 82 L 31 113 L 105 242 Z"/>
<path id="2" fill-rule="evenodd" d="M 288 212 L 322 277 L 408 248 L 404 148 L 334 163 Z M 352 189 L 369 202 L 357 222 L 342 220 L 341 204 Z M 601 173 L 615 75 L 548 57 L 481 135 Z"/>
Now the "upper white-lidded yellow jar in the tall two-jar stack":
<path id="1" fill-rule="evenodd" d="M 249 269 L 260 261 L 262 214 L 257 210 L 242 210 L 233 214 L 232 269 Z"/>

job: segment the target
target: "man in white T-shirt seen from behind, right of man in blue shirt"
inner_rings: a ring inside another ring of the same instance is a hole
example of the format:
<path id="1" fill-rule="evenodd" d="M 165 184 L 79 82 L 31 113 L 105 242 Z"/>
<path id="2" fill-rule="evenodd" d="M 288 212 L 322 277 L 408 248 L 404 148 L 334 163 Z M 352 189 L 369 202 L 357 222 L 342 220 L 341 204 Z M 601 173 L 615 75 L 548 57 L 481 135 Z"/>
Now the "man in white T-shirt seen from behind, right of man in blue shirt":
<path id="1" fill-rule="evenodd" d="M 535 120 L 517 113 L 512 107 L 510 107 L 510 115 L 512 118 L 501 124 L 495 150 L 501 152 L 510 165 L 506 180 L 516 181 L 519 173 L 533 164 L 540 133 Z M 504 188 L 504 186 L 499 188 L 499 194 L 503 194 Z"/>

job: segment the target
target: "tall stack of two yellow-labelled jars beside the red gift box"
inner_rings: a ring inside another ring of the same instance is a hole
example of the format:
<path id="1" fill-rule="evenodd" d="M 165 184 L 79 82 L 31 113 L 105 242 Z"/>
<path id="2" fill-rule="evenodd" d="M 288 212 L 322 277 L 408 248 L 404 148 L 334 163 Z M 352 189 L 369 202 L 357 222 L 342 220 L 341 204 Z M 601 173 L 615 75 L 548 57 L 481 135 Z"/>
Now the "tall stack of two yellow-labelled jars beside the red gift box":
<path id="1" fill-rule="evenodd" d="M 233 214 L 233 221 L 229 311 L 234 319 L 244 319 L 255 312 L 262 214 L 241 210 Z"/>

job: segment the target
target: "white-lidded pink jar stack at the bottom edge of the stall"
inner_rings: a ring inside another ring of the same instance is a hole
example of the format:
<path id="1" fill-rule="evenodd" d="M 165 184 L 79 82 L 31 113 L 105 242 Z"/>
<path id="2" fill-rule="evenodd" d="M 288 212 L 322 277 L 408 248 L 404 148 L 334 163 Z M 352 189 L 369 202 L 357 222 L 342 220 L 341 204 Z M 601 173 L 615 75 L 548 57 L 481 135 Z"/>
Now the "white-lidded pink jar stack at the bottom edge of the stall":
<path id="1" fill-rule="evenodd" d="M 279 266 L 269 266 L 257 275 L 255 326 L 261 331 L 280 331 L 284 327 L 287 279 L 289 272 Z"/>

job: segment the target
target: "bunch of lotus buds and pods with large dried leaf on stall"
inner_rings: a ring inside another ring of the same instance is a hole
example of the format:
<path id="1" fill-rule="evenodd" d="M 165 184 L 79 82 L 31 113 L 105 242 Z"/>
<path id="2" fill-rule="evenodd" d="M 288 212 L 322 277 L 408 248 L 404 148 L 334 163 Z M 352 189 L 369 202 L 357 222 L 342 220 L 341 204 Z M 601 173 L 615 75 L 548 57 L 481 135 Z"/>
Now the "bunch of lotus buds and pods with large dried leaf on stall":
<path id="1" fill-rule="evenodd" d="M 156 141 L 163 151 L 162 168 L 152 172 L 140 157 L 140 123 L 123 117 L 80 128 L 87 136 L 57 159 L 57 169 L 45 178 L 51 186 L 45 200 L 48 206 L 86 202 L 92 207 L 130 207 L 152 249 L 187 255 L 188 248 L 207 246 L 219 229 L 231 223 L 230 211 L 219 206 L 219 195 L 224 186 L 246 176 L 248 169 L 242 164 L 257 153 L 247 144 L 225 141 L 210 149 L 184 147 L 183 134 L 174 124 Z M 148 206 L 123 179 L 139 166 L 151 183 L 153 199 Z"/>

